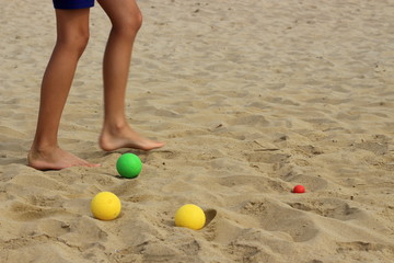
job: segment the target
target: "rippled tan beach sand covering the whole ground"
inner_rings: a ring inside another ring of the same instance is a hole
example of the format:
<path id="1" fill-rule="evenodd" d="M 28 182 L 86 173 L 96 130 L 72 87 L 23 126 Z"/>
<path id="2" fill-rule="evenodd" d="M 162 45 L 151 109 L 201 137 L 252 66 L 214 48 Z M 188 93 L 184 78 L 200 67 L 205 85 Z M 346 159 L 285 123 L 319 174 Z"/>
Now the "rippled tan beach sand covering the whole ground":
<path id="1" fill-rule="evenodd" d="M 102 167 L 46 172 L 26 153 L 54 10 L 0 3 L 1 262 L 394 261 L 394 1 L 139 1 L 127 113 L 166 142 L 151 152 L 97 146 L 97 4 L 59 140 Z M 135 180 L 116 172 L 124 152 L 143 162 Z M 101 191 L 121 199 L 116 220 L 92 217 Z M 204 229 L 174 226 L 188 203 Z"/>

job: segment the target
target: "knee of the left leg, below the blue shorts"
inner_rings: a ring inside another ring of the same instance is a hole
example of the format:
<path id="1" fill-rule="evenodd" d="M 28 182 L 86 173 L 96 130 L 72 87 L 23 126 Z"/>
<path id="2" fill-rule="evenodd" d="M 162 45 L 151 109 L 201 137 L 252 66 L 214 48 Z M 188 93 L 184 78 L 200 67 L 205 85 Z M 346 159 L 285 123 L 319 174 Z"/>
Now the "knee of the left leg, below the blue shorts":
<path id="1" fill-rule="evenodd" d="M 57 45 L 67 48 L 68 52 L 80 57 L 89 43 L 89 32 L 76 31 L 69 34 L 58 35 Z"/>

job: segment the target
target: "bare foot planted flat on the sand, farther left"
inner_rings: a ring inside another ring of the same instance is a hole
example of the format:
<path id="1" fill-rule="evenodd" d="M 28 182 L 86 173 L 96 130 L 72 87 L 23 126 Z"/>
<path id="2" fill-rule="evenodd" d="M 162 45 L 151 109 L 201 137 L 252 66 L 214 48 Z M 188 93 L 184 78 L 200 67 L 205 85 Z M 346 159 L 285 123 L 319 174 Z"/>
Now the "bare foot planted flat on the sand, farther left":
<path id="1" fill-rule="evenodd" d="M 30 167 L 37 170 L 61 170 L 70 167 L 100 167 L 100 164 L 90 163 L 58 147 L 44 151 L 32 149 L 28 152 L 27 161 Z"/>

